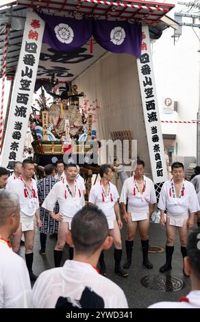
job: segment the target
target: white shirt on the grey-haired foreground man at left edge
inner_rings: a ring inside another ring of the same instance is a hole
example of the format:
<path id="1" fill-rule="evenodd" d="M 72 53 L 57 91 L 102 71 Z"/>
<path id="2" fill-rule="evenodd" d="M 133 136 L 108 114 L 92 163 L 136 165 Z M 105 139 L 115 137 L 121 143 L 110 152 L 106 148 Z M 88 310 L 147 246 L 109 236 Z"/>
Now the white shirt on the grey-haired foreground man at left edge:
<path id="1" fill-rule="evenodd" d="M 24 260 L 0 240 L 0 308 L 32 308 L 32 287 Z"/>

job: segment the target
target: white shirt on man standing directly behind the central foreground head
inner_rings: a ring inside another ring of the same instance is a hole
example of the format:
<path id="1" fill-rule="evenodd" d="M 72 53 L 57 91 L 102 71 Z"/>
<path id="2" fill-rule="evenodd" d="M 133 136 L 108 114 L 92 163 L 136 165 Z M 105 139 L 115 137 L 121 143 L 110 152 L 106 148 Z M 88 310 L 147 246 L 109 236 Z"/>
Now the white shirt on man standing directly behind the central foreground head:
<path id="1" fill-rule="evenodd" d="M 100 182 L 92 186 L 90 190 L 90 195 L 89 195 L 89 202 L 94 203 L 97 207 L 99 207 L 107 217 L 107 219 L 110 220 L 115 220 L 116 219 L 116 214 L 114 212 L 114 204 L 118 200 L 118 191 L 116 189 L 116 186 L 112 184 L 112 182 L 109 182 L 110 184 L 110 193 L 108 194 L 107 190 L 107 197 L 104 196 L 104 201 L 103 201 L 103 190 L 102 190 L 102 185 Z"/>

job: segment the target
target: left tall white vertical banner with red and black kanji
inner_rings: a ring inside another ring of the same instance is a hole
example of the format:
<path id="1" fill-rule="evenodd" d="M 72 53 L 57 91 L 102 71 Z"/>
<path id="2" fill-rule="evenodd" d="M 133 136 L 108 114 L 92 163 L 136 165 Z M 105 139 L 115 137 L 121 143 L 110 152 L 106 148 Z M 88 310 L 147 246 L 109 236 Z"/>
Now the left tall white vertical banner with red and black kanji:
<path id="1" fill-rule="evenodd" d="M 22 160 L 44 28 L 35 12 L 27 12 L 1 155 L 1 166 L 7 169 Z"/>

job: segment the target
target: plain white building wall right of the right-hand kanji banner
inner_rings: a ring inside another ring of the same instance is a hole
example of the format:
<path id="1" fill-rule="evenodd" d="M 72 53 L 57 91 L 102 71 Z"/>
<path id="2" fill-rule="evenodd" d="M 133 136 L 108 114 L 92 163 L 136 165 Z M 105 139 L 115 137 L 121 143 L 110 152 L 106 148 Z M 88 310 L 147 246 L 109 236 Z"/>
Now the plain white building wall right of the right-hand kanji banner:
<path id="1" fill-rule="evenodd" d="M 176 3 L 177 1 L 169 1 Z M 186 1 L 187 2 L 187 1 Z M 190 9 L 183 5 L 176 5 L 168 16 L 174 18 L 174 12 Z M 198 9 L 196 8 L 196 10 Z M 190 12 L 192 13 L 192 12 Z M 190 18 L 183 18 L 183 22 L 192 22 Z M 199 29 L 195 32 L 200 35 Z M 153 43 L 153 67 L 157 88 L 158 104 L 162 121 L 191 121 L 197 119 L 199 106 L 199 40 L 192 27 L 183 26 L 182 36 L 175 42 L 173 29 L 166 29 L 162 37 Z M 164 97 L 178 101 L 178 112 L 164 114 L 162 111 Z M 177 134 L 177 155 L 197 155 L 197 125 L 196 124 L 168 124 L 162 123 L 163 134 Z M 175 154 L 175 152 L 174 152 Z"/>

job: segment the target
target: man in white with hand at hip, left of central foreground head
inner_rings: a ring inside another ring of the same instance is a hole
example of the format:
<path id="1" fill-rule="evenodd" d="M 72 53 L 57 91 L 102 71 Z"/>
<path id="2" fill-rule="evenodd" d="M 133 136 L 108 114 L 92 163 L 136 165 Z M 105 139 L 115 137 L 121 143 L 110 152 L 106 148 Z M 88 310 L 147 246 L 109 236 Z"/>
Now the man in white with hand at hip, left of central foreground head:
<path id="1" fill-rule="evenodd" d="M 71 230 L 71 221 L 78 210 L 85 205 L 82 184 L 76 181 L 77 166 L 66 164 L 64 173 L 66 178 L 57 182 L 42 203 L 42 208 L 49 210 L 53 219 L 59 221 L 58 241 L 54 250 L 55 267 L 60 267 L 62 249 L 66 243 L 66 232 Z M 59 203 L 59 213 L 55 214 L 55 203 Z M 73 259 L 73 245 L 69 245 L 69 258 Z"/>

